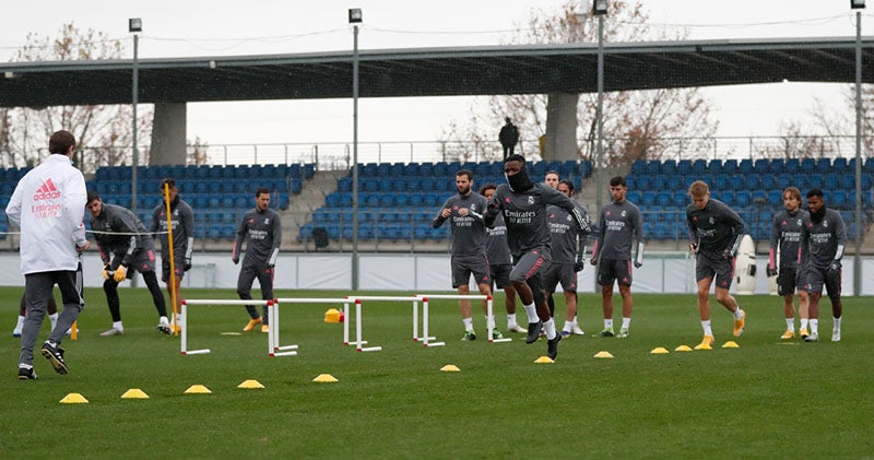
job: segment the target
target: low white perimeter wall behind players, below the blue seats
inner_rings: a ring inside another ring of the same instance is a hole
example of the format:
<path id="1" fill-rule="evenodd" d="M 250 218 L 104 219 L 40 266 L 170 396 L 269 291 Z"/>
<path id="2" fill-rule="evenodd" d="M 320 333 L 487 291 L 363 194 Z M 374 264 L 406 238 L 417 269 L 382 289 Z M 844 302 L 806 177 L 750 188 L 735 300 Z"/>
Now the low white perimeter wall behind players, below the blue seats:
<path id="1" fill-rule="evenodd" d="M 276 263 L 275 288 L 280 290 L 341 290 L 352 288 L 352 256 L 320 253 L 281 255 Z M 768 293 L 765 278 L 767 259 L 756 259 L 756 293 Z M 19 255 L 0 253 L 0 285 L 23 286 L 24 276 L 19 270 Z M 161 267 L 158 261 L 158 267 Z M 103 285 L 99 256 L 84 257 L 85 285 Z M 359 288 L 362 291 L 451 291 L 449 256 L 445 255 L 359 255 Z M 158 269 L 160 270 L 160 269 Z M 196 253 L 194 268 L 186 274 L 184 287 L 235 288 L 239 266 L 225 253 Z M 874 295 L 874 258 L 862 258 L 862 295 Z M 637 293 L 694 293 L 693 260 L 683 255 L 647 253 L 643 267 L 634 272 L 633 291 Z M 256 285 L 258 282 L 256 281 Z M 140 286 L 144 286 L 142 280 Z M 732 285 L 735 291 L 736 283 Z M 845 258 L 843 293 L 852 295 L 852 258 Z M 474 286 L 475 291 L 475 286 Z M 579 292 L 594 293 L 594 267 L 587 266 L 580 273 Z"/>

